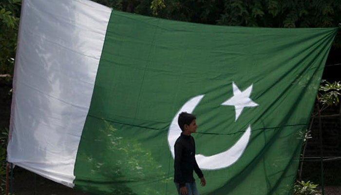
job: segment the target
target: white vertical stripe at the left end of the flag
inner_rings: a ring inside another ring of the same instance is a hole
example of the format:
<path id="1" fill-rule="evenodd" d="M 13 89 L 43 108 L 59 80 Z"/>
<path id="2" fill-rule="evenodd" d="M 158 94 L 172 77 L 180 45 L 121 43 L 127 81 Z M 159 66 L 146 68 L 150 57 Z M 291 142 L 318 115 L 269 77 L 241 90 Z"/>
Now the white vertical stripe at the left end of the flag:
<path id="1" fill-rule="evenodd" d="M 8 161 L 74 186 L 110 14 L 89 0 L 23 1 Z"/>

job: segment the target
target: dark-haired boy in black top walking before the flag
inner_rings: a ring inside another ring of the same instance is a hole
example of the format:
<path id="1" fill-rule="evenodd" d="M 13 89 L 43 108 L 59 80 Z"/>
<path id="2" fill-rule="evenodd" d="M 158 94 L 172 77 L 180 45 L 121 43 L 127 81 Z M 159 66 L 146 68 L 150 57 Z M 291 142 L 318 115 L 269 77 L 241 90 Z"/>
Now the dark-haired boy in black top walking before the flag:
<path id="1" fill-rule="evenodd" d="M 193 170 L 200 178 L 201 186 L 206 185 L 206 180 L 195 160 L 194 138 L 190 136 L 195 133 L 196 117 L 192 114 L 182 112 L 178 118 L 178 124 L 182 131 L 174 144 L 174 183 L 179 195 L 198 195 Z"/>

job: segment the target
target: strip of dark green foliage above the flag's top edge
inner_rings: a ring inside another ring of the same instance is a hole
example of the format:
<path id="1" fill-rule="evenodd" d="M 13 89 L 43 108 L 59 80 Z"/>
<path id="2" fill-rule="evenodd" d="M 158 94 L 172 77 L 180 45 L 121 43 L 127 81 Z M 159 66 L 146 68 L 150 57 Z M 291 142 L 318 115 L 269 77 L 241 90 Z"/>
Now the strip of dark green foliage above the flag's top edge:
<path id="1" fill-rule="evenodd" d="M 94 0 L 116 10 L 229 26 L 337 27 L 340 0 Z M 338 33 L 334 47 L 341 48 Z"/>

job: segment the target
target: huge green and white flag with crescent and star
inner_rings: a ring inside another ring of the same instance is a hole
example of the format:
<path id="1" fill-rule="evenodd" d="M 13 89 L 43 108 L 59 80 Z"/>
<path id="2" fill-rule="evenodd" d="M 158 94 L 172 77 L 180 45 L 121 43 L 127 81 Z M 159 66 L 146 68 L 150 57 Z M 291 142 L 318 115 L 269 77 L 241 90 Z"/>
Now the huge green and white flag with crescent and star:
<path id="1" fill-rule="evenodd" d="M 8 160 L 93 194 L 175 195 L 186 111 L 199 126 L 200 194 L 289 195 L 336 32 L 24 0 Z"/>

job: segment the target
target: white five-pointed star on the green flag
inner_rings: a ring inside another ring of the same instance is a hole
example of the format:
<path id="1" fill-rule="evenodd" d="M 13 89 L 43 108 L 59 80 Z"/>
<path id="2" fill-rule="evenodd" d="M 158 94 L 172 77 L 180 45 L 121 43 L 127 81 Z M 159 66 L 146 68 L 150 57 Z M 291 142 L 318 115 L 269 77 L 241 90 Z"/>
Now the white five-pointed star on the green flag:
<path id="1" fill-rule="evenodd" d="M 233 97 L 227 99 L 221 105 L 234 106 L 234 109 L 236 111 L 236 118 L 234 121 L 236 121 L 240 114 L 242 114 L 244 107 L 254 107 L 258 106 L 258 104 L 249 98 L 252 91 L 252 84 L 243 92 L 239 90 L 234 82 L 232 82 L 232 87 Z"/>

